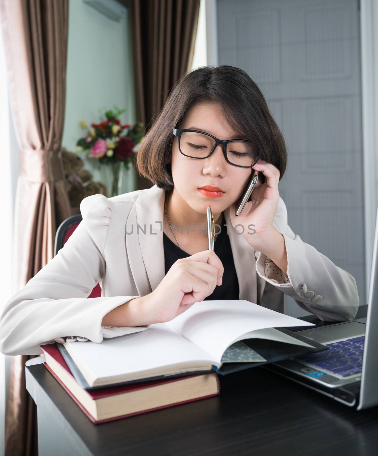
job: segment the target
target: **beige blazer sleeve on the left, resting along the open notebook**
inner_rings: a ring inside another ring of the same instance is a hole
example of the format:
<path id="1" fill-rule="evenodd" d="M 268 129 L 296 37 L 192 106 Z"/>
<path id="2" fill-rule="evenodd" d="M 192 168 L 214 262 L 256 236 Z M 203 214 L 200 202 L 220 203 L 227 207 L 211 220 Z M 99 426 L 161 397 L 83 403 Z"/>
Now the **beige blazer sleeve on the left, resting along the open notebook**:
<path id="1" fill-rule="evenodd" d="M 3 354 L 40 354 L 39 345 L 61 337 L 81 336 L 99 343 L 103 337 L 147 329 L 101 326 L 109 311 L 139 296 L 87 298 L 105 273 L 111 206 L 108 198 L 96 194 L 84 198 L 80 210 L 83 220 L 63 248 L 5 304 L 0 315 Z"/>

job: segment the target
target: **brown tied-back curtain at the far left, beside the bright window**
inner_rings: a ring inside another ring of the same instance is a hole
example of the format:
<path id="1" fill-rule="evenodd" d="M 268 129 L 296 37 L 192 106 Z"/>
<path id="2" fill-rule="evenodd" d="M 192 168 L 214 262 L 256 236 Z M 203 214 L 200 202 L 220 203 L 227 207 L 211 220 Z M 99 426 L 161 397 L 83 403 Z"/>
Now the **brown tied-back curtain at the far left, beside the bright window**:
<path id="1" fill-rule="evenodd" d="M 68 0 L 0 0 L 9 95 L 20 147 L 15 208 L 16 289 L 53 257 L 56 228 L 71 215 L 61 142 L 66 97 Z M 25 362 L 12 357 L 5 456 L 36 455 L 36 407 Z"/>

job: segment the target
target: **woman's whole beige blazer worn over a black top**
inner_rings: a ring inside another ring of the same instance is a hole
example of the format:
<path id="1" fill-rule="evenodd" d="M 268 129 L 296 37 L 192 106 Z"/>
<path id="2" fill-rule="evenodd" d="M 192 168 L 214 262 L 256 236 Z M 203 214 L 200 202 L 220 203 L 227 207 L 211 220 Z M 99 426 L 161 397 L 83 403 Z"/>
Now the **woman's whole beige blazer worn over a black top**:
<path id="1" fill-rule="evenodd" d="M 83 221 L 67 243 L 6 303 L 0 315 L 0 352 L 38 354 L 39 345 L 58 337 L 101 342 L 147 329 L 101 323 L 115 307 L 155 290 L 165 275 L 164 196 L 165 190 L 154 185 L 112 198 L 97 194 L 83 199 Z M 229 208 L 224 216 L 232 227 Z M 352 320 L 359 304 L 353 276 L 293 233 L 282 198 L 273 225 L 285 238 L 290 283 L 266 277 L 265 255 L 229 228 L 239 299 L 284 313 L 286 294 L 323 321 Z M 87 299 L 98 282 L 101 297 Z"/>

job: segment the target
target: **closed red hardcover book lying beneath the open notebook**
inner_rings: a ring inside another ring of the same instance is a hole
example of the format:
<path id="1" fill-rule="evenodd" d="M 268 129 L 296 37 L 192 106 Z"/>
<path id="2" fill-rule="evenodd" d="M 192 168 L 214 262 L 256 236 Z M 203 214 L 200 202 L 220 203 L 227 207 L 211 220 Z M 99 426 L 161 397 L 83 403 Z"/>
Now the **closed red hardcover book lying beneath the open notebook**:
<path id="1" fill-rule="evenodd" d="M 219 378 L 215 372 L 87 391 L 79 386 L 55 343 L 40 347 L 46 358 L 43 364 L 94 424 L 220 393 Z"/>

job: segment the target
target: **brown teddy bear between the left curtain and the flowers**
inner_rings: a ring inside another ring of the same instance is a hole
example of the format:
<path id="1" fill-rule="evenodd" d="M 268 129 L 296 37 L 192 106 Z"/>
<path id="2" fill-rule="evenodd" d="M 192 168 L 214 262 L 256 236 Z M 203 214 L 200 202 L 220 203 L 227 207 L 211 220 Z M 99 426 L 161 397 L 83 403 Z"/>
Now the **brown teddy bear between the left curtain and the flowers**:
<path id="1" fill-rule="evenodd" d="M 78 212 L 82 200 L 90 195 L 101 193 L 108 197 L 106 185 L 103 182 L 92 181 L 92 173 L 84 169 L 84 161 L 78 154 L 62 147 L 62 162 L 66 177 L 65 187 L 73 212 Z"/>

